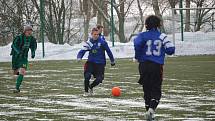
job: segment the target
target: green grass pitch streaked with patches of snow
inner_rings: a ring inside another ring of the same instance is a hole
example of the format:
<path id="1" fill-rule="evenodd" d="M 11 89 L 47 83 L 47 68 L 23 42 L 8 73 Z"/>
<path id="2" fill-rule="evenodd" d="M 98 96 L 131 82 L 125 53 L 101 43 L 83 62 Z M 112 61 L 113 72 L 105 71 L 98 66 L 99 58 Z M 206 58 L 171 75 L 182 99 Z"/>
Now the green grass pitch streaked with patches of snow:
<path id="1" fill-rule="evenodd" d="M 95 95 L 83 97 L 83 64 L 76 61 L 35 61 L 20 94 L 13 94 L 10 63 L 0 63 L 0 120 L 143 120 L 138 64 L 118 59 L 108 63 Z M 158 120 L 215 120 L 215 56 L 166 59 Z M 120 97 L 111 88 L 122 89 Z"/>

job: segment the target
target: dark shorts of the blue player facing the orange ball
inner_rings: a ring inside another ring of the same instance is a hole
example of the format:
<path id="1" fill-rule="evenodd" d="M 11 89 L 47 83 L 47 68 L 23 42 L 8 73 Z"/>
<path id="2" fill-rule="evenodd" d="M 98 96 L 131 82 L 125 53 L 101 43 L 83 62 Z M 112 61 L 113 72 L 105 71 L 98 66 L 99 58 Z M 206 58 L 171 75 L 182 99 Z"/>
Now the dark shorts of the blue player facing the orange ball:
<path id="1" fill-rule="evenodd" d="M 87 61 L 84 65 L 84 74 L 90 73 L 94 78 L 102 77 L 104 79 L 105 64 L 98 64 Z"/>

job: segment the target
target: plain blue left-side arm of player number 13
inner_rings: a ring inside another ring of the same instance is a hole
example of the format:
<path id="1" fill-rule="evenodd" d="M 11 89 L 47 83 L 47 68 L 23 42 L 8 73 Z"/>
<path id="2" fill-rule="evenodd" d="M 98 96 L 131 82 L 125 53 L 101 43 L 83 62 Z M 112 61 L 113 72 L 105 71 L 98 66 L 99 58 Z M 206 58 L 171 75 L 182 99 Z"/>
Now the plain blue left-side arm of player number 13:
<path id="1" fill-rule="evenodd" d="M 134 39 L 134 50 L 135 50 L 135 59 L 139 60 L 141 57 L 141 51 L 143 47 L 143 34 L 140 33 L 138 36 Z"/>

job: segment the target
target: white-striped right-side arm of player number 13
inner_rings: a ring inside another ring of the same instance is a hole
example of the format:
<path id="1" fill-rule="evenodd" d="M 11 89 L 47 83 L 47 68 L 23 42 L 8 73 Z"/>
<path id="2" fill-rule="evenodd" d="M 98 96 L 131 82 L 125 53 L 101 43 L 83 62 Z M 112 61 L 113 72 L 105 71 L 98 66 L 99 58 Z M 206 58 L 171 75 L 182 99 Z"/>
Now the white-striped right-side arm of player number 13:
<path id="1" fill-rule="evenodd" d="M 168 39 L 167 36 L 163 39 L 163 46 L 165 48 L 165 53 L 167 55 L 172 55 L 175 53 L 175 46 L 174 44 Z"/>

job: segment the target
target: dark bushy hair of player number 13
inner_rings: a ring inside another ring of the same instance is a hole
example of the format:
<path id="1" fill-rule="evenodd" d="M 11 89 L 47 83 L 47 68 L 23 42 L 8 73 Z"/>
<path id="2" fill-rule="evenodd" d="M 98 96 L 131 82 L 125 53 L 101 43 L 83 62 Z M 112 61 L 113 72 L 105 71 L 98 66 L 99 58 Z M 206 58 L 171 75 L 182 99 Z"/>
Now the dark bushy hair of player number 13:
<path id="1" fill-rule="evenodd" d="M 147 30 L 151 30 L 153 28 L 161 27 L 161 19 L 158 16 L 150 15 L 145 20 L 145 25 Z"/>

